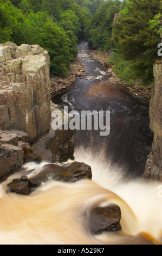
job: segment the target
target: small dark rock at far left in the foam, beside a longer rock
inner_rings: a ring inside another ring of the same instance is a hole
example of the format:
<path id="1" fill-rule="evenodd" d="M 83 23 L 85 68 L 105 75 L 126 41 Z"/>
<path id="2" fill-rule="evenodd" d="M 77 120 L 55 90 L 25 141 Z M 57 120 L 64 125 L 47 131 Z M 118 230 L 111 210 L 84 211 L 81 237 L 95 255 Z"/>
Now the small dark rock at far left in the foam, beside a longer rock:
<path id="1" fill-rule="evenodd" d="M 9 190 L 7 192 L 29 195 L 33 192 L 34 187 L 40 185 L 36 181 L 29 180 L 27 176 L 22 176 L 21 179 L 14 179 L 8 184 Z"/>

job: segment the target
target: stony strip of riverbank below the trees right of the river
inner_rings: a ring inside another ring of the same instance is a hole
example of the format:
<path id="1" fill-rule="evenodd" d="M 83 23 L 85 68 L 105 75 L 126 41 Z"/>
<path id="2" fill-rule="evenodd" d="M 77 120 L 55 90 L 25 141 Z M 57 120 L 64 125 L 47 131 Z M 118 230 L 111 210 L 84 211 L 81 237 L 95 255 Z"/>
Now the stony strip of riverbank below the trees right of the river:
<path id="1" fill-rule="evenodd" d="M 121 86 L 124 86 L 129 92 L 134 95 L 144 97 L 147 100 L 151 99 L 152 95 L 152 86 L 141 86 L 140 82 L 137 80 L 133 85 L 129 83 L 122 82 L 118 76 L 116 76 L 115 71 L 113 70 L 113 65 L 109 63 L 109 56 L 106 52 L 96 52 L 96 50 L 90 49 L 90 54 L 92 54 L 95 60 L 98 60 L 100 64 L 106 69 L 106 71 L 111 75 L 109 78 L 110 82 L 120 83 Z"/>

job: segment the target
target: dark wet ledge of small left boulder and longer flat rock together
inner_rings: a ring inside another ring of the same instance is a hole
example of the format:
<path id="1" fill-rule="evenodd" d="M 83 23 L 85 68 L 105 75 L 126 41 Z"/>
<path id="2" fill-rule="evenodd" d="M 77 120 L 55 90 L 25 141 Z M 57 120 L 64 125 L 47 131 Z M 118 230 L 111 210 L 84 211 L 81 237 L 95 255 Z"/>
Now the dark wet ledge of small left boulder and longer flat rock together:
<path id="1" fill-rule="evenodd" d="M 85 163 L 45 164 L 32 179 L 28 179 L 28 176 L 22 176 L 12 180 L 8 184 L 7 192 L 29 195 L 36 187 L 49 180 L 76 182 L 81 179 L 92 179 L 91 167 Z"/>

